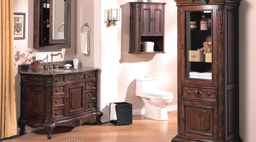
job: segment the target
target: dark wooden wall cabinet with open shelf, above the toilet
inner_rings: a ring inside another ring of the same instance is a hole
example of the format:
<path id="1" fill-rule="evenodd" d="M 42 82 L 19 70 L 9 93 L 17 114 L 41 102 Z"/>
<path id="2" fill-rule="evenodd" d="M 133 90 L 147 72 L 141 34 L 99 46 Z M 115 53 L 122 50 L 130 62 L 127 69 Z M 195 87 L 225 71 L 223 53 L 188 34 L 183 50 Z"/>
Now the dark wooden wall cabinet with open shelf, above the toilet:
<path id="1" fill-rule="evenodd" d="M 158 2 L 130 2 L 131 54 L 164 52 L 164 5 Z M 143 52 L 141 42 L 154 42 L 154 52 Z"/>

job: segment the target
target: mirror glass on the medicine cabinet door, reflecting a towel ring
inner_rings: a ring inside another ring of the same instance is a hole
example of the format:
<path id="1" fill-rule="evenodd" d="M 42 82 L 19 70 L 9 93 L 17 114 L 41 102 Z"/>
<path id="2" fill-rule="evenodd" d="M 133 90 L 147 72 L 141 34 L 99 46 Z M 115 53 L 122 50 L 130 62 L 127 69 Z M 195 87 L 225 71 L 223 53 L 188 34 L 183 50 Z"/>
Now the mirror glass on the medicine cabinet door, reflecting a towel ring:
<path id="1" fill-rule="evenodd" d="M 53 40 L 65 39 L 65 1 L 53 0 Z"/>

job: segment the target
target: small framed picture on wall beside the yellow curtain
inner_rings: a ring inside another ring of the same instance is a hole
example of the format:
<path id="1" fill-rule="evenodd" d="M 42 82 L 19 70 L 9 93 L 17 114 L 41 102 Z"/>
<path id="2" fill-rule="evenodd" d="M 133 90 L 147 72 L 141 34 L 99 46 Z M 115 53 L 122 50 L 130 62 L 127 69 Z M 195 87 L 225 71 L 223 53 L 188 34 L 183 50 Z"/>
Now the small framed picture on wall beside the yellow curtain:
<path id="1" fill-rule="evenodd" d="M 14 12 L 14 39 L 25 39 L 26 13 Z"/>

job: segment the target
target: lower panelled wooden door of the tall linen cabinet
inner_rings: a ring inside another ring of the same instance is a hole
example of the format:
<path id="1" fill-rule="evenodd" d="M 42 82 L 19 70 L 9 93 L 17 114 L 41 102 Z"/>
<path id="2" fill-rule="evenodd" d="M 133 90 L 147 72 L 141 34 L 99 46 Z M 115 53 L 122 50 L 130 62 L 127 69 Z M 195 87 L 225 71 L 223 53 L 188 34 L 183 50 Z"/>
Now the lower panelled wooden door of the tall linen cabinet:
<path id="1" fill-rule="evenodd" d="M 182 135 L 218 140 L 217 104 L 182 100 Z"/>

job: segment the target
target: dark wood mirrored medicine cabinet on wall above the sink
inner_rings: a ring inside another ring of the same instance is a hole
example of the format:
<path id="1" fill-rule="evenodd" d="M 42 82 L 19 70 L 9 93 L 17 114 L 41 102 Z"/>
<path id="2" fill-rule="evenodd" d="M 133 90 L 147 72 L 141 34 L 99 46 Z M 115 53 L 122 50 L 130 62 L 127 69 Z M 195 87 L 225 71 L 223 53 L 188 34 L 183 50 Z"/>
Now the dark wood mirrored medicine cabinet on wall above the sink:
<path id="1" fill-rule="evenodd" d="M 34 0 L 33 48 L 70 48 L 71 0 Z"/>

